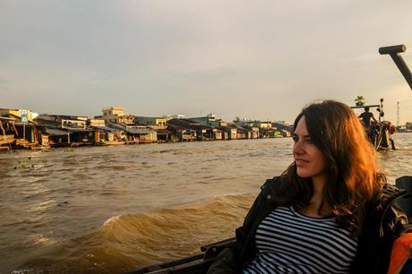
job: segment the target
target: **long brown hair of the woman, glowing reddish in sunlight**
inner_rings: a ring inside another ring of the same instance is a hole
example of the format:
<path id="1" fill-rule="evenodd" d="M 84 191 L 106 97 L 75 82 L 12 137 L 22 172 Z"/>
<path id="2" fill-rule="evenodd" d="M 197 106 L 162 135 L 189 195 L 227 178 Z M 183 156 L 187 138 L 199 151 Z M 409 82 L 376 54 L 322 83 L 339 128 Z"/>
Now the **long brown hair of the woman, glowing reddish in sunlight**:
<path id="1" fill-rule="evenodd" d="M 348 227 L 356 236 L 363 225 L 365 202 L 380 193 L 385 182 L 376 151 L 358 117 L 343 103 L 327 100 L 305 107 L 296 117 L 294 128 L 302 116 L 311 141 L 329 162 L 329 181 L 323 188 L 322 205 L 327 203 L 338 224 Z M 297 176 L 295 162 L 283 176 L 295 193 L 290 204 L 302 210 L 313 194 L 311 179 Z"/>

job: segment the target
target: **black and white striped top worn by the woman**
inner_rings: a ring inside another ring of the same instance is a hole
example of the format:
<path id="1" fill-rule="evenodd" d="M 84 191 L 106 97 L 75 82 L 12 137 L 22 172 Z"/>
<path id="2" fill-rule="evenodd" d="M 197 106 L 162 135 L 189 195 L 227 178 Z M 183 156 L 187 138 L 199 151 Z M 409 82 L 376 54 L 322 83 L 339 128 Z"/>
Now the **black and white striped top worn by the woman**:
<path id="1" fill-rule="evenodd" d="M 276 208 L 256 230 L 258 253 L 244 273 L 348 273 L 357 240 L 335 219 Z"/>

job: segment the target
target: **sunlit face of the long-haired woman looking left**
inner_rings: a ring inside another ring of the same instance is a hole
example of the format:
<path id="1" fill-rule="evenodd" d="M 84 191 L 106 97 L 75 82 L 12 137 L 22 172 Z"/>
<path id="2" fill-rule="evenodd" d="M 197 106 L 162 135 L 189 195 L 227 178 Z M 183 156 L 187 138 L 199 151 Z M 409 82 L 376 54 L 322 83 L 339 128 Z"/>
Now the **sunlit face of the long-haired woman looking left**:
<path id="1" fill-rule="evenodd" d="M 312 177 L 313 179 L 326 177 L 327 160 L 311 141 L 307 132 L 305 116 L 299 120 L 293 134 L 293 156 L 296 162 L 297 176 Z"/>

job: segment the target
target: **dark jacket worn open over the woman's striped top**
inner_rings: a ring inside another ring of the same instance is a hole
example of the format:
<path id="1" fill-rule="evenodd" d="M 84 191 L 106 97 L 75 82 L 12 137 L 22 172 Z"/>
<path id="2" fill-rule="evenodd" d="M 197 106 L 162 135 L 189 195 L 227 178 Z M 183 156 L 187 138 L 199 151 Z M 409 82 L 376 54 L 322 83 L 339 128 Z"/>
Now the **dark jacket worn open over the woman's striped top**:
<path id="1" fill-rule="evenodd" d="M 239 273 L 253 261 L 257 250 L 254 236 L 263 218 L 277 207 L 275 193 L 287 184 L 282 177 L 274 177 L 262 185 L 242 227 L 236 229 L 236 242 L 223 249 L 211 264 L 208 273 Z M 364 228 L 358 236 L 358 248 L 351 273 L 386 273 L 391 257 L 391 246 L 408 227 L 408 218 L 394 203 L 406 194 L 386 184 L 381 199 L 365 205 Z"/>

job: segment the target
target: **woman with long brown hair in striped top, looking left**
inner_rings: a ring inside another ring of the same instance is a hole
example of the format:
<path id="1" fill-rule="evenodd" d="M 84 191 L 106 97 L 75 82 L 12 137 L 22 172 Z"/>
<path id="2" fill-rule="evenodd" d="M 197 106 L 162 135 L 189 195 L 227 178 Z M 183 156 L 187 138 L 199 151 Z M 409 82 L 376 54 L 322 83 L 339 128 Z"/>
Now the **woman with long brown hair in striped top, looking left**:
<path id="1" fill-rule="evenodd" d="M 354 112 L 337 101 L 296 117 L 294 162 L 267 180 L 208 273 L 386 273 L 408 219 Z"/>

